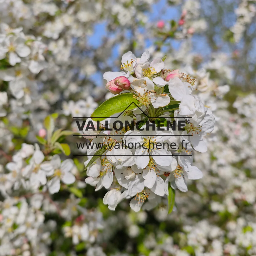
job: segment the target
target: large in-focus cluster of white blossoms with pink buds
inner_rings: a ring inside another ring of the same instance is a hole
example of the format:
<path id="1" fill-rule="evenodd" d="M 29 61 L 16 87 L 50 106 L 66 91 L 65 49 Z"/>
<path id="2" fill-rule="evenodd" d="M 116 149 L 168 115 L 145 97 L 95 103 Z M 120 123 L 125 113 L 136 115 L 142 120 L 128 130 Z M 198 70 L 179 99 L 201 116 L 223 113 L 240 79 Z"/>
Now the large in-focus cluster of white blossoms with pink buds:
<path id="1" fill-rule="evenodd" d="M 137 107 L 121 113 L 116 110 L 118 113 L 109 120 L 110 129 L 101 121 L 103 131 L 90 131 L 90 122 L 97 126 L 93 114 L 92 120 L 87 120 L 84 126 L 85 137 L 94 137 L 90 142 L 94 146 L 88 153 L 98 156 L 97 160 L 92 156 L 92 160 L 89 158 L 85 162 L 89 176 L 85 181 L 96 186 L 95 191 L 102 187 L 110 189 L 103 202 L 111 210 L 125 198 L 132 198 L 130 206 L 134 211 L 139 211 L 145 201 L 143 207 L 152 209 L 161 197 L 169 195 L 169 182 L 173 189 L 186 192 L 187 178 L 202 177 L 201 171 L 193 165 L 192 152 L 207 151 L 204 137 L 213 131 L 215 117 L 193 94 L 195 79 L 179 70 L 164 69 L 161 58 L 151 62 L 149 59 L 148 51 L 141 58 L 127 52 L 122 57 L 121 69 L 124 71 L 104 74 L 106 88 L 114 94 L 120 93 L 119 96 L 132 94 L 132 104 L 136 102 Z M 110 101 L 118 104 L 119 97 L 115 96 L 105 104 Z M 178 105 L 176 108 L 175 104 Z M 95 112 L 103 107 L 104 103 Z M 173 129 L 169 127 L 170 119 L 175 120 Z M 120 120 L 132 128 L 122 126 L 113 131 L 111 128 Z M 182 129 L 178 129 L 180 120 L 184 122 Z M 141 125 L 137 125 L 138 121 Z M 124 147 L 120 148 L 123 142 Z M 100 158 L 99 143 L 105 149 Z"/>

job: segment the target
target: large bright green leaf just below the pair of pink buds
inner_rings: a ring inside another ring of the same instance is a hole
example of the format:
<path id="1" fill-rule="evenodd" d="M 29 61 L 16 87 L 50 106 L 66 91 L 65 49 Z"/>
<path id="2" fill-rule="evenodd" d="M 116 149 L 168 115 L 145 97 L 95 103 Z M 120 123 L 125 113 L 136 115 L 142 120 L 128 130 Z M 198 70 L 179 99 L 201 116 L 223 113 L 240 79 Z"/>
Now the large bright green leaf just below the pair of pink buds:
<path id="1" fill-rule="evenodd" d="M 136 106 L 134 104 L 131 104 L 132 102 L 137 105 L 139 104 L 138 100 L 133 98 L 132 93 L 121 93 L 115 97 L 106 100 L 100 106 L 98 106 L 98 108 L 95 109 L 94 112 L 91 114 L 91 118 L 94 121 L 102 121 L 106 119 L 106 117 L 110 117 L 115 113 L 123 112 L 124 110 L 135 109 Z M 131 106 L 129 106 L 130 104 Z"/>

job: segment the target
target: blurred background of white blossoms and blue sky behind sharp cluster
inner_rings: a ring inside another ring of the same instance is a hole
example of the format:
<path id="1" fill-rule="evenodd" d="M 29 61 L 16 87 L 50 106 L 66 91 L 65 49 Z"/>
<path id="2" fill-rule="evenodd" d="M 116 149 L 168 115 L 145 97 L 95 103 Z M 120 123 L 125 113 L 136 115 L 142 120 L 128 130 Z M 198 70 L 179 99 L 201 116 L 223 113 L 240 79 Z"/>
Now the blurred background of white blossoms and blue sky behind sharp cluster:
<path id="1" fill-rule="evenodd" d="M 0 255 L 256 255 L 255 19 L 255 0 L 0 0 Z M 195 78 L 216 117 L 194 155 L 204 176 L 169 215 L 165 202 L 110 211 L 106 190 L 84 183 L 87 158 L 74 155 L 86 151 L 62 134 L 69 147 L 55 153 L 73 160 L 76 181 L 58 187 L 55 173 L 49 193 L 45 117 L 77 131 L 73 116 L 113 96 L 103 73 L 145 50 Z"/>

